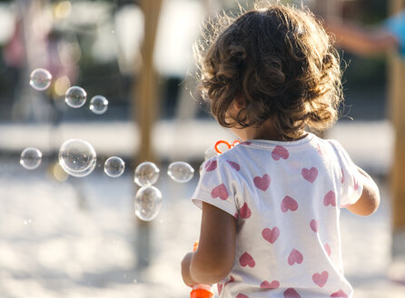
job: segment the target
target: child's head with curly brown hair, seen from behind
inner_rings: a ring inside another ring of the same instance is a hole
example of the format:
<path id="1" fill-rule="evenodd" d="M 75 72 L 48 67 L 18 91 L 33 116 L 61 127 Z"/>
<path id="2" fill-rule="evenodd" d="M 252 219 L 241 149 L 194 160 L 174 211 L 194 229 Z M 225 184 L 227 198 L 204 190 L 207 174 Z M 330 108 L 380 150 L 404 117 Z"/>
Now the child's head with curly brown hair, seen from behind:
<path id="1" fill-rule="evenodd" d="M 221 16 L 197 47 L 200 89 L 225 127 L 271 121 L 277 134 L 300 136 L 336 121 L 341 102 L 339 56 L 308 10 L 267 5 L 236 19 Z M 244 107 L 229 118 L 235 99 Z"/>

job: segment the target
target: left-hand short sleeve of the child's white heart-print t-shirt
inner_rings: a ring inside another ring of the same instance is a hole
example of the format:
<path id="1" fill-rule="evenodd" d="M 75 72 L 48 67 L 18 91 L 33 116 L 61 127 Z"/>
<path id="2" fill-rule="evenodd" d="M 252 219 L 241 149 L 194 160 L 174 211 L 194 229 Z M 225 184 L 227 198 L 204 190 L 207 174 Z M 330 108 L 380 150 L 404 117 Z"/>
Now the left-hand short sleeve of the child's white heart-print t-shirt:
<path id="1" fill-rule="evenodd" d="M 236 194 L 239 189 L 235 163 L 223 161 L 220 156 L 212 157 L 203 164 L 200 181 L 192 196 L 192 201 L 199 208 L 203 202 L 236 217 Z"/>

